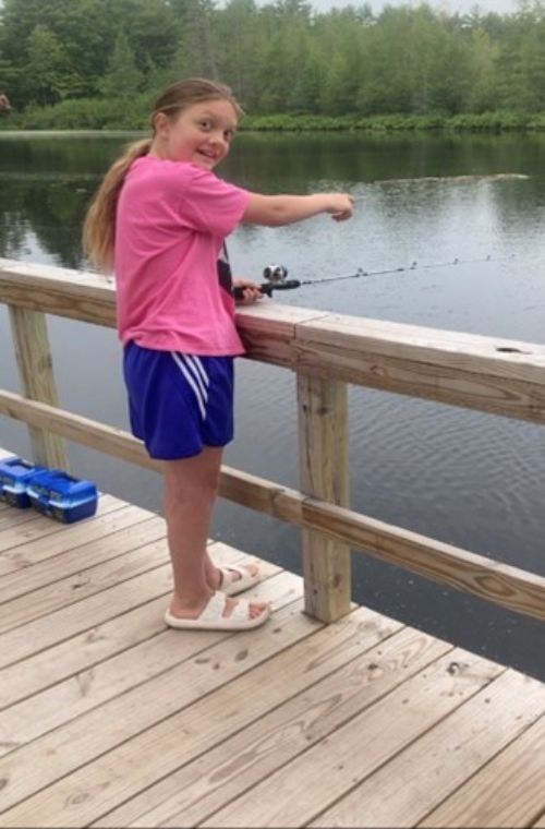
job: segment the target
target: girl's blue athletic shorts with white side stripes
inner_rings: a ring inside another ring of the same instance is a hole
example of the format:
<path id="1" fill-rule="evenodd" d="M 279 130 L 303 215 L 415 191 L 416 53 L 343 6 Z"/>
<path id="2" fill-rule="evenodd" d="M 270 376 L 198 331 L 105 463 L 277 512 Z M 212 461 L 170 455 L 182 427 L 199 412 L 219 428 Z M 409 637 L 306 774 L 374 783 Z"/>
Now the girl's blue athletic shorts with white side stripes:
<path id="1" fill-rule="evenodd" d="M 123 353 L 131 430 L 150 457 L 177 460 L 233 438 L 233 358 L 156 351 Z"/>

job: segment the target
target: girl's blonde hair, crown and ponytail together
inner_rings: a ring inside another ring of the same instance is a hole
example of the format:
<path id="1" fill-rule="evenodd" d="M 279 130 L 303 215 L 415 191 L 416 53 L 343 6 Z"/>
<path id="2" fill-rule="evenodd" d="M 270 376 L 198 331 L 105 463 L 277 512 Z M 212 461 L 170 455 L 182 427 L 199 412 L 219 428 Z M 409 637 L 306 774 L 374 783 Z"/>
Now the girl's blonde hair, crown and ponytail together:
<path id="1" fill-rule="evenodd" d="M 172 120 L 183 109 L 206 100 L 229 100 L 238 116 L 243 115 L 232 91 L 225 84 L 203 77 L 180 81 L 160 96 L 152 112 L 150 122 L 155 133 L 155 121 L 159 112 Z M 85 217 L 83 247 L 89 260 L 102 271 L 111 269 L 116 244 L 116 213 L 119 194 L 131 165 L 149 153 L 153 137 L 131 144 L 123 155 L 112 164 L 100 184 Z"/>

